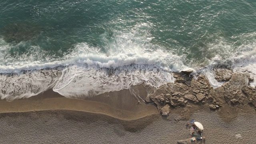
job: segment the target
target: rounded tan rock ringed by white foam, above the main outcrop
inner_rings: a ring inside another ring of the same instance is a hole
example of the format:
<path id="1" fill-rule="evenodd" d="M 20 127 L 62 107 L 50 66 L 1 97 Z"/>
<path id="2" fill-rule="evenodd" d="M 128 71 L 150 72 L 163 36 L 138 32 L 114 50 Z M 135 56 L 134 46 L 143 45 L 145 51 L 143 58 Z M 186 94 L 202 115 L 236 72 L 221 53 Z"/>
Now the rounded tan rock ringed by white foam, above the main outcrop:
<path id="1" fill-rule="evenodd" d="M 220 68 L 215 70 L 215 78 L 218 82 L 228 81 L 232 76 L 232 70 Z"/>

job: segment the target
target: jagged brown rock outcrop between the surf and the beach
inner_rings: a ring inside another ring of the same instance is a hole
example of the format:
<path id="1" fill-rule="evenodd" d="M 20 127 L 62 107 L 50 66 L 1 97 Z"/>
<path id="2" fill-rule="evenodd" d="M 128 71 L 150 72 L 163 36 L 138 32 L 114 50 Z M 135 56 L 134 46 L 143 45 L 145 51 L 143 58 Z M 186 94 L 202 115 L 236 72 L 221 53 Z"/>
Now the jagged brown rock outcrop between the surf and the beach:
<path id="1" fill-rule="evenodd" d="M 230 106 L 250 104 L 256 108 L 256 88 L 249 84 L 253 80 L 250 73 L 217 69 L 216 79 L 225 83 L 212 88 L 204 74 L 192 75 L 191 72 L 174 73 L 175 82 L 158 88 L 146 97 L 146 102 L 154 102 L 163 116 L 168 116 L 172 108 L 188 104 L 208 104 L 212 110 L 226 103 Z"/>

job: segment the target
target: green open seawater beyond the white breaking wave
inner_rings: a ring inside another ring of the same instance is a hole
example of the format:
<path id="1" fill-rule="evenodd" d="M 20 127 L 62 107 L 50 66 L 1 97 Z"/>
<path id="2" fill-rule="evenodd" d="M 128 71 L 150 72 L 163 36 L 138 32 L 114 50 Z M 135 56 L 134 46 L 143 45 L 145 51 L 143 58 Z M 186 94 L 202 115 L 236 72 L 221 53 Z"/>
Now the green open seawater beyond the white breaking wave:
<path id="1" fill-rule="evenodd" d="M 150 43 L 184 63 L 224 57 L 256 39 L 255 0 L 8 0 L 0 13 L 1 65 L 65 59 L 79 43 L 108 53 L 136 26 L 124 43 Z"/>

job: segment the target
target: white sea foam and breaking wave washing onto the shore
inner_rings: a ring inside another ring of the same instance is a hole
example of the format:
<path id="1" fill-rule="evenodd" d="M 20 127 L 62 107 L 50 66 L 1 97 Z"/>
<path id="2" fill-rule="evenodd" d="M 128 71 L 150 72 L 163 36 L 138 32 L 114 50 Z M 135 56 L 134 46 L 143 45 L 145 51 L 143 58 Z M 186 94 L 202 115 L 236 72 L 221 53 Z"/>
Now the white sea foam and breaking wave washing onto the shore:
<path id="1" fill-rule="evenodd" d="M 152 43 L 149 28 L 148 24 L 137 24 L 132 30 L 116 31 L 116 35 L 106 41 L 104 52 L 100 47 L 78 43 L 71 53 L 56 59 L 43 57 L 43 54 L 33 57 L 33 54 L 40 53 L 37 48 L 30 57 L 24 54 L 14 59 L 6 56 L 10 48 L 8 44 L 1 44 L 0 56 L 5 56 L 7 60 L 0 60 L 0 73 L 4 73 L 0 76 L 0 97 L 8 100 L 28 98 L 50 87 L 70 98 L 95 96 L 141 83 L 158 87 L 174 82 L 171 72 L 188 68 L 205 73 L 212 86 L 218 87 L 223 83 L 215 80 L 213 70 L 220 65 L 234 71 L 246 70 L 256 76 L 254 42 L 242 45 L 237 50 L 232 50 L 232 44 L 222 40 L 209 44 L 209 49 L 216 49 L 218 54 L 209 59 L 205 68 L 201 68 L 199 64 L 184 64 L 185 55 L 176 55 Z M 106 35 L 101 35 L 103 40 Z M 64 67 L 56 69 L 58 66 Z M 20 73 L 24 70 L 28 71 Z M 18 74 L 8 75 L 13 72 Z"/>

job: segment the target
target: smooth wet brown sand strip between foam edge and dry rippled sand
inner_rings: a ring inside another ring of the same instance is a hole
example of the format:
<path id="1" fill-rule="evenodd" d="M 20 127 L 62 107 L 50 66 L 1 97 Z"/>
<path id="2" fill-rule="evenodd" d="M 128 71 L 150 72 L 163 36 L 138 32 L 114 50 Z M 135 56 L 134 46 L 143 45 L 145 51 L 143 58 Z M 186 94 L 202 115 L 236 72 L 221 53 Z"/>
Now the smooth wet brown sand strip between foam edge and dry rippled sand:
<path id="1" fill-rule="evenodd" d="M 104 114 L 120 120 L 136 120 L 159 114 L 156 106 L 144 102 L 138 103 L 137 98 L 128 93 L 128 91 L 120 90 L 119 92 L 110 92 L 107 96 L 102 94 L 83 100 L 66 98 L 52 90 L 48 90 L 37 96 L 13 100 L 12 102 L 0 100 L 0 113 L 70 110 Z M 120 96 L 121 94 L 126 94 L 126 96 Z M 120 98 L 122 100 L 119 100 Z M 130 104 L 124 104 L 127 101 L 130 101 Z"/>

